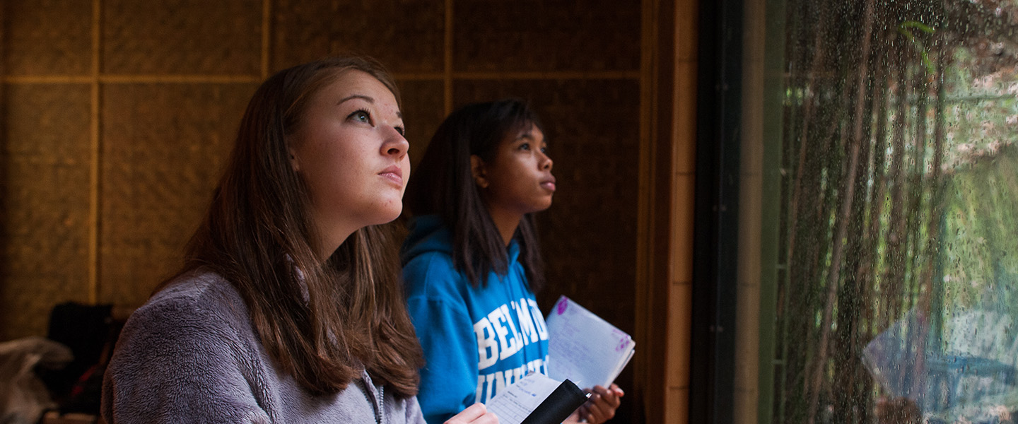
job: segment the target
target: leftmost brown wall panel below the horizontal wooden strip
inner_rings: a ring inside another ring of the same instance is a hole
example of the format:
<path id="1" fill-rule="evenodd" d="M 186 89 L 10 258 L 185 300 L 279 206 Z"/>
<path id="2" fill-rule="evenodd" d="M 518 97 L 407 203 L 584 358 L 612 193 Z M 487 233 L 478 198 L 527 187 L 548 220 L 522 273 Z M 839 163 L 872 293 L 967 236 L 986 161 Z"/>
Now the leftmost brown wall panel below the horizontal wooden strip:
<path id="1" fill-rule="evenodd" d="M 88 85 L 3 89 L 0 340 L 46 335 L 49 312 L 89 301 Z"/>

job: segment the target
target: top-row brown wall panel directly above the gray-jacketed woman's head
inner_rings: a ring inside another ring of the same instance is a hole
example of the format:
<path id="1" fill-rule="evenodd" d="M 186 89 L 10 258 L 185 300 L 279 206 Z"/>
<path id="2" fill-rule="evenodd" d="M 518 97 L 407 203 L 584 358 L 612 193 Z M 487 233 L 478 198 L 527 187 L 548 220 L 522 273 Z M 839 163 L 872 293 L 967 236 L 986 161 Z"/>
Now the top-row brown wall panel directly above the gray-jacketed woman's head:
<path id="1" fill-rule="evenodd" d="M 393 72 L 442 70 L 443 0 L 279 0 L 274 8 L 273 69 L 353 53 Z"/>

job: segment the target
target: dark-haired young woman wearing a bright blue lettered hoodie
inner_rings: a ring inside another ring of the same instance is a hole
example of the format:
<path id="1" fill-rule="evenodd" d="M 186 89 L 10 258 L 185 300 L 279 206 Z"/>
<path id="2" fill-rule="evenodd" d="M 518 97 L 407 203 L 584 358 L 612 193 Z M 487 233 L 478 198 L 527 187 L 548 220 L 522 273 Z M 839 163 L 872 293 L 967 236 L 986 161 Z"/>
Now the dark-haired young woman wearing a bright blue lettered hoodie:
<path id="1" fill-rule="evenodd" d="M 407 187 L 413 217 L 401 260 L 425 351 L 418 399 L 429 423 L 487 402 L 528 372 L 547 374 L 533 224 L 556 188 L 545 149 L 541 122 L 524 102 L 468 105 L 439 126 Z M 622 390 L 590 390 L 570 420 L 615 415 Z"/>

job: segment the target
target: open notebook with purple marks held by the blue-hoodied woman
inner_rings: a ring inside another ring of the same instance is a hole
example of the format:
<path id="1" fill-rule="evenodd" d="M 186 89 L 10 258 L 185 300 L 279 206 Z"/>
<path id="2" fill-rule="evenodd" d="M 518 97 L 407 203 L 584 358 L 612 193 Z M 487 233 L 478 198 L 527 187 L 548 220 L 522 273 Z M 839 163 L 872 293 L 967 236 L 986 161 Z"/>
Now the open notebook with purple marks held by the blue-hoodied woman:
<path id="1" fill-rule="evenodd" d="M 636 342 L 571 299 L 559 298 L 548 318 L 548 374 L 580 387 L 608 387 L 632 359 Z"/>

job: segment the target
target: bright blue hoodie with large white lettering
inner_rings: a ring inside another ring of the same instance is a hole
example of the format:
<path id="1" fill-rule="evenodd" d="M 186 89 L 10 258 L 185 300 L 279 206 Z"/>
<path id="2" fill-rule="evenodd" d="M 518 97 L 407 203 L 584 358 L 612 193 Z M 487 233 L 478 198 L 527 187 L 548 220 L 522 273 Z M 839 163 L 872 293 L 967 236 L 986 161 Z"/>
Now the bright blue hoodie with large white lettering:
<path id="1" fill-rule="evenodd" d="M 547 374 L 548 329 L 519 245 L 508 248 L 508 274 L 473 287 L 452 259 L 452 232 L 437 216 L 417 217 L 403 244 L 407 308 L 425 350 L 417 400 L 425 419 L 442 423 L 488 402 L 530 371 Z"/>

